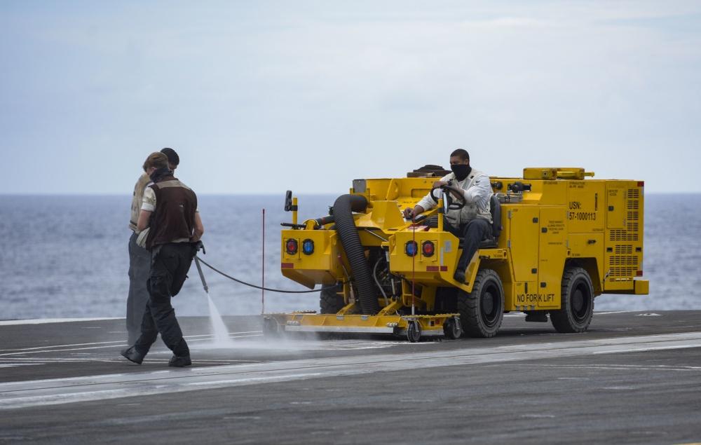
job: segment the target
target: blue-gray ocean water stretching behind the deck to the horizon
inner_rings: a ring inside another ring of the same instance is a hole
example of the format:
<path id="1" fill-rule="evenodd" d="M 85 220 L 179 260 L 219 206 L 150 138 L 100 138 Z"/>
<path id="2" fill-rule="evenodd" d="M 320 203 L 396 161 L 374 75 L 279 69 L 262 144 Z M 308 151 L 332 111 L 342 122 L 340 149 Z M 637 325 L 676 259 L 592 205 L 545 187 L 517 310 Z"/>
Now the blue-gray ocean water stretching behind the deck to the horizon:
<path id="1" fill-rule="evenodd" d="M 280 274 L 283 196 L 200 196 L 205 261 L 242 280 L 306 288 Z M 596 310 L 701 309 L 701 194 L 646 194 L 645 296 L 602 295 Z M 300 220 L 327 214 L 334 196 L 300 196 Z M 0 319 L 122 317 L 128 293 L 129 196 L 0 196 Z M 265 209 L 265 258 L 262 210 Z M 261 291 L 205 268 L 222 315 L 261 313 Z M 318 294 L 265 293 L 266 312 L 318 309 Z M 173 304 L 208 315 L 193 266 Z"/>

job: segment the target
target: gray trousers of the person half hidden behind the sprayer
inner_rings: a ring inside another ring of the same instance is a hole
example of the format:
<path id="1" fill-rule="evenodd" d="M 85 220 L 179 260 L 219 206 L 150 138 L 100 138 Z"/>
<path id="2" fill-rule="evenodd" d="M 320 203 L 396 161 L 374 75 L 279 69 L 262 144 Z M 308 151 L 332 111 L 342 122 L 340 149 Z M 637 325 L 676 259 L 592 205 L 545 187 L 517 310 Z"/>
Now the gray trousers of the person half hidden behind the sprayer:
<path id="1" fill-rule="evenodd" d="M 151 252 L 136 244 L 137 234 L 129 238 L 129 295 L 127 296 L 128 343 L 133 345 L 141 335 L 141 322 L 149 301 L 147 281 L 151 275 Z"/>

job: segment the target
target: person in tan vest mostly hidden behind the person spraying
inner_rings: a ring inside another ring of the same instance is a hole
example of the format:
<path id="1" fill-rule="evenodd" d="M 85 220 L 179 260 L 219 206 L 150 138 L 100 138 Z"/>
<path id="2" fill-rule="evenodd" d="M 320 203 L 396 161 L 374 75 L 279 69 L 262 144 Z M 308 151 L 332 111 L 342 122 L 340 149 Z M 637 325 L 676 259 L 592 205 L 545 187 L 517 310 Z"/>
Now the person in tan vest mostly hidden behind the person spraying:
<path id="1" fill-rule="evenodd" d="M 175 170 L 180 163 L 180 159 L 175 150 L 165 148 L 161 153 L 168 158 L 168 167 Z M 155 158 L 154 158 L 155 156 Z M 132 195 L 131 216 L 129 228 L 132 230 L 129 237 L 129 294 L 127 296 L 127 316 L 126 327 L 128 334 L 128 344 L 133 345 L 139 334 L 141 334 L 141 320 L 144 317 L 144 308 L 149 301 L 149 289 L 146 282 L 149 280 L 151 271 L 151 253 L 144 247 L 137 245 L 137 223 L 139 213 L 144 200 L 144 190 L 151 184 L 151 178 L 147 170 L 153 167 L 154 160 L 163 160 L 160 153 L 151 153 L 151 156 L 144 162 L 144 173 L 137 179 Z"/>

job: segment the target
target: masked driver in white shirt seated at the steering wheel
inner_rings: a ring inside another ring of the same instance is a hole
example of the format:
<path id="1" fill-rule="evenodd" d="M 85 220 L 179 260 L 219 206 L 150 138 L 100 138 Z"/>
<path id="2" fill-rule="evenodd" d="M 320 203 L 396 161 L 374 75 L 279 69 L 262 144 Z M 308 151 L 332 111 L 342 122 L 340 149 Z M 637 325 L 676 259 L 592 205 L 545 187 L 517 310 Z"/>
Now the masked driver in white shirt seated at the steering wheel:
<path id="1" fill-rule="evenodd" d="M 489 177 L 470 167 L 470 154 L 457 149 L 450 153 L 450 169 L 453 171 L 433 183 L 433 188 L 449 186 L 450 193 L 465 203 L 461 209 L 445 213 L 445 228 L 463 240 L 463 252 L 458 259 L 454 278 L 465 282 L 465 269 L 477 252 L 479 243 L 491 232 L 491 182 Z M 416 218 L 418 214 L 435 207 L 430 193 L 418 201 L 413 209 L 404 209 L 404 217 Z"/>

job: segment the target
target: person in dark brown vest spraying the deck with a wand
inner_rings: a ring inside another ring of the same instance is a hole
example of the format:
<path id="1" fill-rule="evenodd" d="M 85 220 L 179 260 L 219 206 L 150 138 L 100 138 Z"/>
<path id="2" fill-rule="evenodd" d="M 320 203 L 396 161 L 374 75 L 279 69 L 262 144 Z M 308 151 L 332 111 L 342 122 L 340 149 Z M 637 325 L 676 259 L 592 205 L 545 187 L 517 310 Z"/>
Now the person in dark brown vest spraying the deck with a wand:
<path id="1" fill-rule="evenodd" d="M 161 153 L 151 156 L 157 154 Z M 140 238 L 145 238 L 146 248 L 151 252 L 149 301 L 141 335 L 121 354 L 140 364 L 160 333 L 163 343 L 173 352 L 169 365 L 183 367 L 191 364 L 190 351 L 170 299 L 185 282 L 204 228 L 197 211 L 196 194 L 173 177 L 167 158 L 155 161 L 147 172 L 154 184 L 144 191 L 137 230 L 147 233 Z"/>

